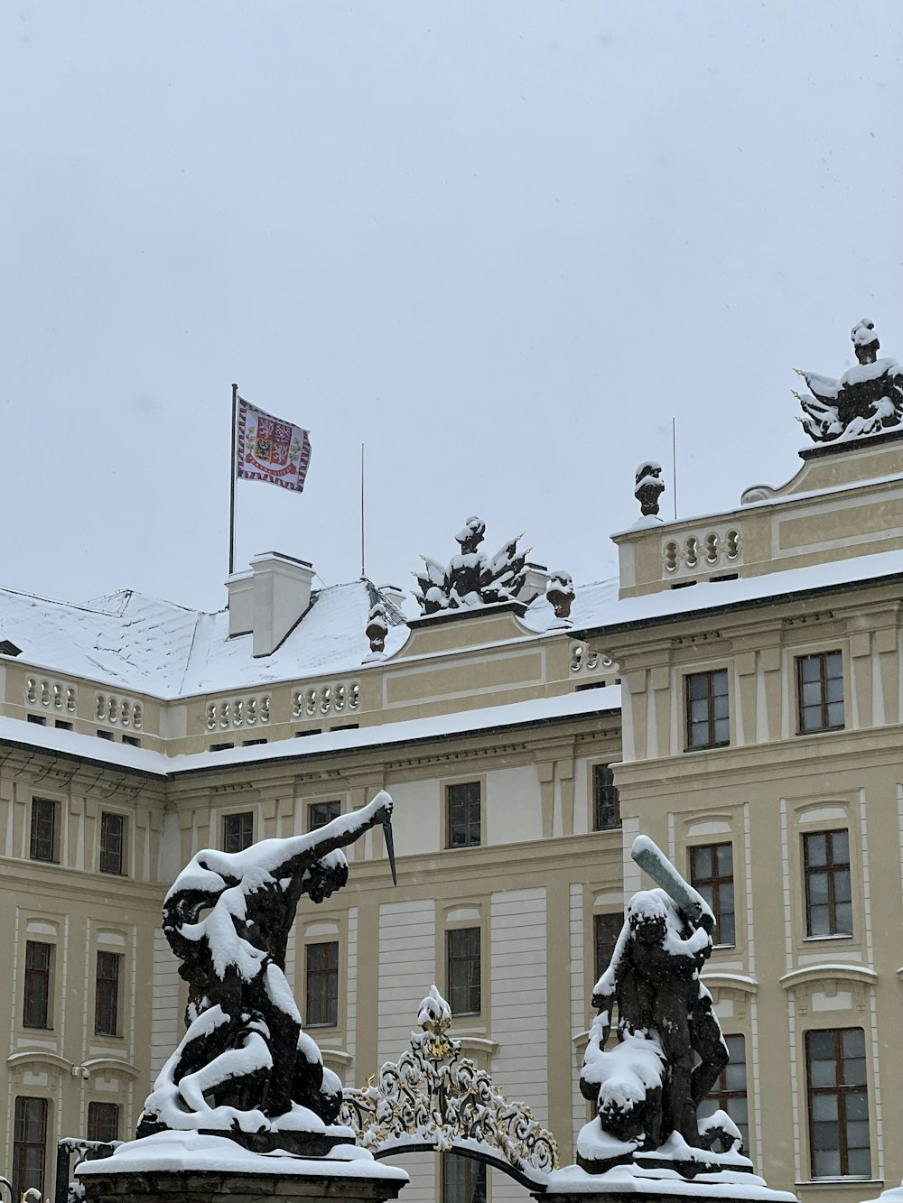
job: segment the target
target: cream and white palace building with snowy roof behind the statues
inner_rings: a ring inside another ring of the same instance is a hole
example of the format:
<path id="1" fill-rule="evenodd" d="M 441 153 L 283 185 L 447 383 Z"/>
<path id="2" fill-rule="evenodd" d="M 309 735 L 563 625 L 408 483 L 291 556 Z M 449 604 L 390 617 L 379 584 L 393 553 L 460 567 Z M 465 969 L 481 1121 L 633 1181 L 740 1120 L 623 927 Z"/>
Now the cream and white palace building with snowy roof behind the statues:
<path id="1" fill-rule="evenodd" d="M 290 942 L 343 1080 L 396 1060 L 436 983 L 465 1053 L 573 1160 L 642 831 L 718 915 L 718 1102 L 769 1185 L 833 1203 L 899 1181 L 903 439 L 801 455 L 737 509 L 616 534 L 619 581 L 578 587 L 569 620 L 536 573 L 517 602 L 412 618 L 275 553 L 219 615 L 1 591 L 0 1173 L 49 1195 L 59 1138 L 134 1131 L 181 1033 L 159 914 L 194 853 L 388 789 L 397 887 L 367 832 Z M 411 1203 L 483 1189 L 402 1163 Z"/>

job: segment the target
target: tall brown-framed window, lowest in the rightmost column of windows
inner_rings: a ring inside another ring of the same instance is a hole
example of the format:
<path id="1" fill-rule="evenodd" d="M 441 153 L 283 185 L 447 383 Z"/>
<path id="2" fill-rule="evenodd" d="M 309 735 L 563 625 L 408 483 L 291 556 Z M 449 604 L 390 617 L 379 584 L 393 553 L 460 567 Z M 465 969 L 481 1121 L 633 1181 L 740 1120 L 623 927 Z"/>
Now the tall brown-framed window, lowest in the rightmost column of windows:
<path id="1" fill-rule="evenodd" d="M 805 1033 L 813 1178 L 869 1178 L 866 1035 L 861 1027 Z"/>

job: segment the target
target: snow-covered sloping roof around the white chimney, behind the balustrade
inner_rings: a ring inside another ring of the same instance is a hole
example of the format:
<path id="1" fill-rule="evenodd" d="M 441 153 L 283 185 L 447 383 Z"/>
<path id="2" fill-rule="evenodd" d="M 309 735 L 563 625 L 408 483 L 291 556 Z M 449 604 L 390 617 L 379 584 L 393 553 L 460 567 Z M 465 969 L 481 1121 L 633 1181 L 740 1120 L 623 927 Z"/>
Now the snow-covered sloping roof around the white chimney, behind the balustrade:
<path id="1" fill-rule="evenodd" d="M 354 671 L 370 656 L 372 604 L 364 580 L 323 588 L 284 642 L 255 659 L 250 635 L 229 639 L 225 610 L 187 610 L 131 589 L 84 605 L 0 589 L 0 640 L 48 674 L 172 699 Z M 386 653 L 406 636 L 405 626 L 390 627 Z"/>

